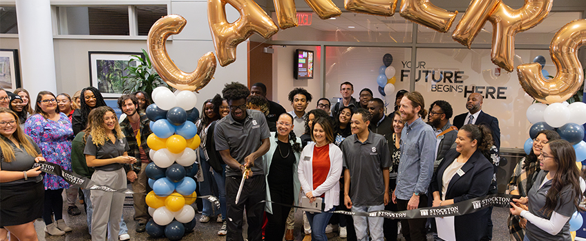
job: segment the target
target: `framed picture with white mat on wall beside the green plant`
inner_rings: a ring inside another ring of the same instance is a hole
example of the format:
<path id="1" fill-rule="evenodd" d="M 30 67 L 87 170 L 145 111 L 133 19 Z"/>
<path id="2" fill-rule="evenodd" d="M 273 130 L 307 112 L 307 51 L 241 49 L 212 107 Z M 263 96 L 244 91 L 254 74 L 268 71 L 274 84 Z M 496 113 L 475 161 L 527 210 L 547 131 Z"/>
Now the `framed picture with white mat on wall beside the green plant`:
<path id="1" fill-rule="evenodd" d="M 100 90 L 102 96 L 117 98 L 124 90 L 126 67 L 133 55 L 144 58 L 142 52 L 88 52 L 90 85 Z M 136 66 L 135 62 L 130 63 Z"/>

